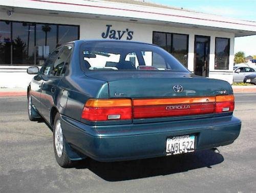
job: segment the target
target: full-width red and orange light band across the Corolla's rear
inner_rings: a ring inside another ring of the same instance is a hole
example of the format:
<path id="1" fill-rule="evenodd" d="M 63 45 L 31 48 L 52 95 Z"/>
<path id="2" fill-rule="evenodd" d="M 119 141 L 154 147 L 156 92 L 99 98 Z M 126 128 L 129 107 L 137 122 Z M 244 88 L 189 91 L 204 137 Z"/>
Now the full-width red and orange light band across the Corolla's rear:
<path id="1" fill-rule="evenodd" d="M 91 122 L 233 112 L 234 96 L 172 99 L 89 99 L 81 118 Z"/>

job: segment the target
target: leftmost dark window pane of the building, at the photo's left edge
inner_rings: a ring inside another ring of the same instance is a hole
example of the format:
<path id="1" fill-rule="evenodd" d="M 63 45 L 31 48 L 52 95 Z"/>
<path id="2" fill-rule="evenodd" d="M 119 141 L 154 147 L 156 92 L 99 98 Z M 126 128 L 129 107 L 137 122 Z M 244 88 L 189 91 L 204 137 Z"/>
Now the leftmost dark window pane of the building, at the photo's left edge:
<path id="1" fill-rule="evenodd" d="M 11 22 L 0 21 L 0 64 L 11 64 Z"/>

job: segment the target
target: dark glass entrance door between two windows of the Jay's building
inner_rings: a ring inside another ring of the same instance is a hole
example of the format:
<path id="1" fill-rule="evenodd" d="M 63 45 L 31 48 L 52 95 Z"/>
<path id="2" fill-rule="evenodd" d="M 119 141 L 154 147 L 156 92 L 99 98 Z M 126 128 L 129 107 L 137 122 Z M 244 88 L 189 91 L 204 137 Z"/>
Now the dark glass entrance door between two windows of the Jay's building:
<path id="1" fill-rule="evenodd" d="M 195 61 L 194 74 L 202 77 L 209 75 L 209 53 L 210 53 L 210 37 L 195 36 Z"/>

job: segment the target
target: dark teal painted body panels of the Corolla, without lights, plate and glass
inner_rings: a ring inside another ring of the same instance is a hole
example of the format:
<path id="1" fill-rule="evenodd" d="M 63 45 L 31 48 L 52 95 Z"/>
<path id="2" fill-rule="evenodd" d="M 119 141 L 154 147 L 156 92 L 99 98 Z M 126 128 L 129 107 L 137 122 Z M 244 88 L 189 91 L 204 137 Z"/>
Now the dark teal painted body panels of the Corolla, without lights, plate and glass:
<path id="1" fill-rule="evenodd" d="M 124 98 L 213 96 L 219 91 L 233 93 L 225 81 L 197 77 L 189 72 L 84 71 L 79 57 L 82 43 L 82 40 L 72 43 L 72 58 L 64 77 L 46 79 L 39 74 L 29 86 L 36 109 L 49 124 L 52 108 L 61 114 L 65 146 L 71 159 L 90 156 L 99 161 L 115 161 L 164 156 L 166 137 L 174 135 L 196 134 L 197 150 L 222 146 L 238 137 L 241 122 L 232 113 L 102 123 L 82 120 L 84 103 L 90 98 L 116 98 L 118 93 L 124 93 Z M 173 91 L 176 84 L 184 86 L 182 93 Z M 44 85 L 43 91 L 41 85 Z M 56 87 L 54 93 L 51 92 L 53 86 Z M 41 95 L 45 98 L 40 99 Z"/>

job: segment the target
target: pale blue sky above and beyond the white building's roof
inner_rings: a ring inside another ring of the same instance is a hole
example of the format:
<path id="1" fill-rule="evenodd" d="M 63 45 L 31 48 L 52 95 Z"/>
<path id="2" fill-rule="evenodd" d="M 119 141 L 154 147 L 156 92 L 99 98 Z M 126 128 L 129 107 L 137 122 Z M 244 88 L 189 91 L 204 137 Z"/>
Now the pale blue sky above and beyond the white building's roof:
<path id="1" fill-rule="evenodd" d="M 256 21 L 255 0 L 153 0 L 149 2 Z M 256 36 L 235 38 L 234 52 L 243 51 L 246 56 L 256 55 L 255 45 Z"/>

